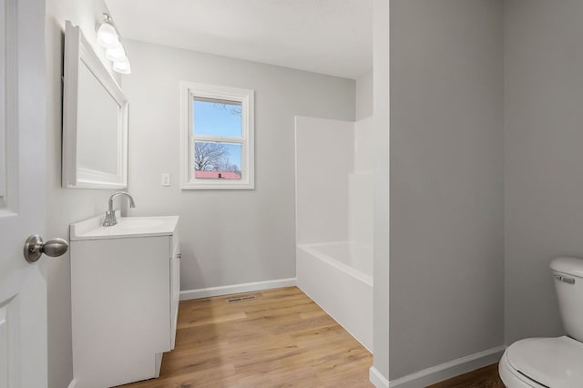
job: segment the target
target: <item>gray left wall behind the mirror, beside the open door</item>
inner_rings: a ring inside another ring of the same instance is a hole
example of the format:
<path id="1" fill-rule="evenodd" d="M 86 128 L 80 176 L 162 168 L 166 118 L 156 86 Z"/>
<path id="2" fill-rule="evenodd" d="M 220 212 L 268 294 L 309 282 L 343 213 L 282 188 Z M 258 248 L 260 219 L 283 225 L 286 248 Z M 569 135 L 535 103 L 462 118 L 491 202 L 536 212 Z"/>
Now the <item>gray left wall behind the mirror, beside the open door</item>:
<path id="1" fill-rule="evenodd" d="M 95 26 L 107 11 L 102 0 L 46 1 L 46 239 L 68 239 L 69 224 L 107 209 L 108 190 L 61 189 L 61 76 L 65 20 L 81 27 L 97 46 Z M 107 63 L 108 65 L 108 63 Z M 69 255 L 45 261 L 48 303 L 48 386 L 66 387 L 73 378 Z"/>

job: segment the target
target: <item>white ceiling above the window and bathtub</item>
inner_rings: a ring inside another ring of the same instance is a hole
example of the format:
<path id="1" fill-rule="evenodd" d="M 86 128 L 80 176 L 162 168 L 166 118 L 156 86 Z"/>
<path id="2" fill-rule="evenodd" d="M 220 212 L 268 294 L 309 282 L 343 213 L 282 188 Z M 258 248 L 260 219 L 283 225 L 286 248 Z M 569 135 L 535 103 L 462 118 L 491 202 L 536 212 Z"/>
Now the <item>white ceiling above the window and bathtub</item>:
<path id="1" fill-rule="evenodd" d="M 353 79 L 373 68 L 373 0 L 106 3 L 125 39 Z"/>

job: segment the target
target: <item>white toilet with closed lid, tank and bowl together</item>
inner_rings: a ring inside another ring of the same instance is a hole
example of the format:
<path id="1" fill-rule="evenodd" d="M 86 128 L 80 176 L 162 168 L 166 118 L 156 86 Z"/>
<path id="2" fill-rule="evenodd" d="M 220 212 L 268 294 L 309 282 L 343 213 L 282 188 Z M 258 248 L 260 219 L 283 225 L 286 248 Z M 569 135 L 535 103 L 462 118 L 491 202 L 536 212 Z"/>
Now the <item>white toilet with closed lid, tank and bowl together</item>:
<path id="1" fill-rule="evenodd" d="M 559 257 L 550 269 L 567 335 L 508 346 L 498 365 L 508 388 L 583 387 L 583 259 Z"/>

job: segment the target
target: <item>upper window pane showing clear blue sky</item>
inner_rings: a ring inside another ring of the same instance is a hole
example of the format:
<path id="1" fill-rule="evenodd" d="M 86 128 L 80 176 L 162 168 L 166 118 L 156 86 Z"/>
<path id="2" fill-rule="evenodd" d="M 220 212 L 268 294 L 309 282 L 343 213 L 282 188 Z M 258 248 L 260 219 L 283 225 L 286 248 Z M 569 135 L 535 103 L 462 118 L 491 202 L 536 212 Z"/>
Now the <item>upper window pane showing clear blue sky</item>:
<path id="1" fill-rule="evenodd" d="M 240 102 L 195 98 L 192 104 L 193 134 L 241 137 Z"/>

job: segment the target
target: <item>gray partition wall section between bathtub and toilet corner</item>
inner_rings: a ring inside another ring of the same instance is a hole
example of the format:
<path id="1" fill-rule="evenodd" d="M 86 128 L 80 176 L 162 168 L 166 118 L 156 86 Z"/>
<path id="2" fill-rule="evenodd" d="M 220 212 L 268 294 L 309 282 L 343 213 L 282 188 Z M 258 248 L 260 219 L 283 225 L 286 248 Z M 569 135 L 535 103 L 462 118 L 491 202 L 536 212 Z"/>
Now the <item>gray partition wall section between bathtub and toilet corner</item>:
<path id="1" fill-rule="evenodd" d="M 390 19 L 393 380 L 504 343 L 503 3 Z"/>

